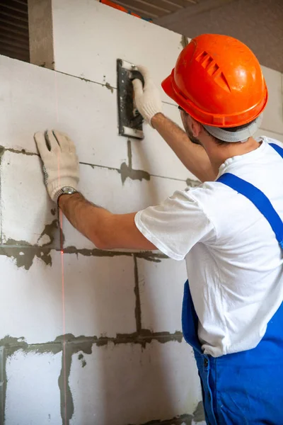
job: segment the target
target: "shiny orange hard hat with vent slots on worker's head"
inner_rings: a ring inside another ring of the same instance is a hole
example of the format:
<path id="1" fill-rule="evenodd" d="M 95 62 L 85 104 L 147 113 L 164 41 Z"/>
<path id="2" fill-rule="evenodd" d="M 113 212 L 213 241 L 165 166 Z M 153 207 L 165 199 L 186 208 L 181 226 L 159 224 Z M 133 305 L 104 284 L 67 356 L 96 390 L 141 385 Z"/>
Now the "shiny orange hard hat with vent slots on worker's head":
<path id="1" fill-rule="evenodd" d="M 253 52 L 236 38 L 218 34 L 193 38 L 161 85 L 192 118 L 214 127 L 250 123 L 268 97 Z"/>

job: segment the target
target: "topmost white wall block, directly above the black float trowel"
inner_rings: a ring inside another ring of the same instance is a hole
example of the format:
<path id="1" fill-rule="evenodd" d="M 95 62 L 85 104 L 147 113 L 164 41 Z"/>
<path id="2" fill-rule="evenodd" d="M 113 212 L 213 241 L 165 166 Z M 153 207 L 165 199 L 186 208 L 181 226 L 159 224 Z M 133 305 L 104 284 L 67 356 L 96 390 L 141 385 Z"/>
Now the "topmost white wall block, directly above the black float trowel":
<path id="1" fill-rule="evenodd" d="M 149 67 L 160 84 L 182 50 L 179 34 L 95 0 L 53 0 L 52 10 L 55 69 L 99 84 L 117 86 L 117 58 Z"/>

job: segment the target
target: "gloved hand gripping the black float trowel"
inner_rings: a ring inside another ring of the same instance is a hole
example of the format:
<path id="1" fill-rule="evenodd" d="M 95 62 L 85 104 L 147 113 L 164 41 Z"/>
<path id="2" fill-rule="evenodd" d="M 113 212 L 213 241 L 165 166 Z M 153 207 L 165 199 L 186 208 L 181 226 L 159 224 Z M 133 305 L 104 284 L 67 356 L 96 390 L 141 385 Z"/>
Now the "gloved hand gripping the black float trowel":
<path id="1" fill-rule="evenodd" d="M 149 71 L 146 67 L 139 66 L 138 69 L 144 77 L 144 87 L 139 79 L 132 81 L 134 86 L 134 101 L 139 113 L 151 125 L 151 119 L 154 118 L 154 115 L 163 112 L 161 96 L 154 81 L 149 77 Z"/>

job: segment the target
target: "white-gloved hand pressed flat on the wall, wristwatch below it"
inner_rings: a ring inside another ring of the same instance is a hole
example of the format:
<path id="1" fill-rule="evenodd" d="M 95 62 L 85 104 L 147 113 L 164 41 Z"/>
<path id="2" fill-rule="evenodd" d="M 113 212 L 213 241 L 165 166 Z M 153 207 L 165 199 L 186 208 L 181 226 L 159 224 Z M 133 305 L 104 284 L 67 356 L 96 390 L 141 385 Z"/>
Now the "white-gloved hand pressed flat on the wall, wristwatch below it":
<path id="1" fill-rule="evenodd" d="M 79 183 L 79 159 L 74 142 L 59 131 L 37 132 L 35 143 L 43 162 L 45 185 L 50 198 L 57 202 L 64 186 L 76 189 Z"/>

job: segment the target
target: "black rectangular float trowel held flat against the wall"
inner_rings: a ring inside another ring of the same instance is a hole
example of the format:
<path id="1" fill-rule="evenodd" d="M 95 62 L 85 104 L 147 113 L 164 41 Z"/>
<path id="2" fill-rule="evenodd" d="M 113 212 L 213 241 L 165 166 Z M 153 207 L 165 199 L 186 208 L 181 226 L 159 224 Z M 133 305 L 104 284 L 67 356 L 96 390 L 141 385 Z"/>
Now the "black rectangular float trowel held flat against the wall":
<path id="1" fill-rule="evenodd" d="M 144 85 L 144 77 L 134 64 L 117 59 L 117 100 L 119 134 L 125 137 L 143 139 L 143 118 L 134 105 L 134 88 L 132 81 L 141 80 Z"/>

